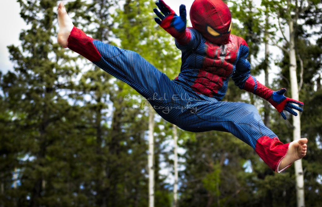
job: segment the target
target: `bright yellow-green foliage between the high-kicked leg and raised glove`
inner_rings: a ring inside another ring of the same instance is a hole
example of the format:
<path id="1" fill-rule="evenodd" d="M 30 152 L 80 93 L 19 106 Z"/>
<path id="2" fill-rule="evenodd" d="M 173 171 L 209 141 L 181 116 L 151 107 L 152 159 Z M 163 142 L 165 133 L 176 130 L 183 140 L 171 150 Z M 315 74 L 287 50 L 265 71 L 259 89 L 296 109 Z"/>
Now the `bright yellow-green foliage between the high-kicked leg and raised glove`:
<path id="1" fill-rule="evenodd" d="M 180 71 L 180 51 L 173 37 L 155 23 L 155 7 L 154 1 L 126 1 L 124 13 L 114 17 L 118 27 L 113 33 L 121 40 L 121 48 L 134 50 L 173 79 Z"/>

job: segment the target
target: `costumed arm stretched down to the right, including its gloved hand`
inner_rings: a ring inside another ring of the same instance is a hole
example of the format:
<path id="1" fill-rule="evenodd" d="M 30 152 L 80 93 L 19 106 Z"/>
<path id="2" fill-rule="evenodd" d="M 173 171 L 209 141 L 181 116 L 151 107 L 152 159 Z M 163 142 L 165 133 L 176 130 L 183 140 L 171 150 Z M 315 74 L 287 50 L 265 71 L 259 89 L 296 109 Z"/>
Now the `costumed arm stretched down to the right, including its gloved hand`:
<path id="1" fill-rule="evenodd" d="M 303 109 L 294 104 L 303 106 L 303 103 L 295 99 L 285 97 L 283 94 L 286 92 L 286 89 L 280 89 L 278 91 L 269 89 L 250 74 L 250 63 L 246 59 L 247 56 L 248 46 L 246 42 L 244 42 L 244 44 L 240 46 L 240 58 L 236 64 L 236 72 L 232 77 L 232 79 L 235 81 L 235 85 L 237 85 L 240 89 L 252 92 L 259 97 L 266 99 L 278 110 L 284 119 L 286 119 L 286 116 L 283 113 L 283 110 L 288 111 L 294 116 L 297 116 L 298 114 L 292 109 L 302 112 Z"/>

